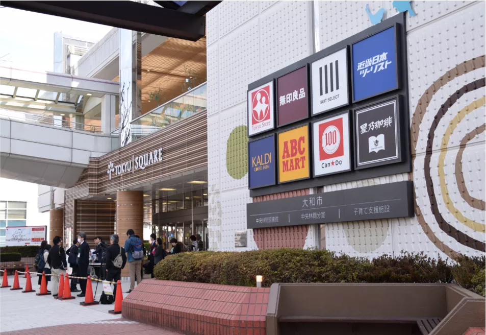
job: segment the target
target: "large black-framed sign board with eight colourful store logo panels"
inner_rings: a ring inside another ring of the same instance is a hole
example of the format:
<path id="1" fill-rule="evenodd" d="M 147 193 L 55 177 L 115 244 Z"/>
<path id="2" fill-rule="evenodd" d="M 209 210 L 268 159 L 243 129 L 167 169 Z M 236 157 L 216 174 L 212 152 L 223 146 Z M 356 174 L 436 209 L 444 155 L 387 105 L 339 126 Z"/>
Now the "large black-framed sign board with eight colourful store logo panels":
<path id="1" fill-rule="evenodd" d="M 250 196 L 410 172 L 407 85 L 403 13 L 249 84 Z"/>

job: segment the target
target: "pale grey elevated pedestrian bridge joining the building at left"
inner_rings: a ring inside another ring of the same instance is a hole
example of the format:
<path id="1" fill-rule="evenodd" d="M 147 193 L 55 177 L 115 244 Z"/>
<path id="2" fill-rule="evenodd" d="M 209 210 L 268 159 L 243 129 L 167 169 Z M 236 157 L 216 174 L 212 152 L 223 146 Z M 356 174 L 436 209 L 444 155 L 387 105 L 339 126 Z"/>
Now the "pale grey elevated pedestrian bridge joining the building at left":
<path id="1" fill-rule="evenodd" d="M 0 67 L 0 177 L 68 188 L 118 147 L 119 84 Z"/>

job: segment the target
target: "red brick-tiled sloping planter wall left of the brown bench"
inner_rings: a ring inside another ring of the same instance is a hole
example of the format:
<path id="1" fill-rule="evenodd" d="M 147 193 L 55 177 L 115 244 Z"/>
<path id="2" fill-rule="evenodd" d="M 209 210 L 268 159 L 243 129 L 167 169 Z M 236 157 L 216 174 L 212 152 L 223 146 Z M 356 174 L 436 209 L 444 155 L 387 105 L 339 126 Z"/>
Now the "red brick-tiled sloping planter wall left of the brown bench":
<path id="1" fill-rule="evenodd" d="M 146 279 L 123 300 L 126 319 L 185 334 L 265 334 L 269 288 Z"/>

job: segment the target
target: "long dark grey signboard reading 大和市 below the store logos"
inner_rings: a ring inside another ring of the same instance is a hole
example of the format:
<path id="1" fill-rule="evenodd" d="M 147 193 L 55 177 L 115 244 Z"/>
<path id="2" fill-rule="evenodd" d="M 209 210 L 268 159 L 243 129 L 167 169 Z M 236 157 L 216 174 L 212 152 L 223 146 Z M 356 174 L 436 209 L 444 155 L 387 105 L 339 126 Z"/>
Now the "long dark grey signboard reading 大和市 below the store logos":
<path id="1" fill-rule="evenodd" d="M 366 186 L 246 205 L 247 228 L 414 216 L 413 182 Z"/>

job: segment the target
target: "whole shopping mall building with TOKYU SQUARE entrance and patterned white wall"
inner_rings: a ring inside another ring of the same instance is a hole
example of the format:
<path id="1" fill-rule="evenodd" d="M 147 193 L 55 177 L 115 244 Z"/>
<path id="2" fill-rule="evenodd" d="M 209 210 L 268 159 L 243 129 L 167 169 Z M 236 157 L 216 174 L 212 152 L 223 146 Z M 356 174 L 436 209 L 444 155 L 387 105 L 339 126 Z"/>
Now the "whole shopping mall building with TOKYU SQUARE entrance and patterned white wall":
<path id="1" fill-rule="evenodd" d="M 219 251 L 483 255 L 484 12 L 223 1 L 196 41 L 58 36 L 58 73 L 0 68 L 4 107 L 25 112 L 17 87 L 57 97 L 44 123 L 0 119 L 0 176 L 47 185 L 39 210 L 65 241 L 132 228 Z"/>

